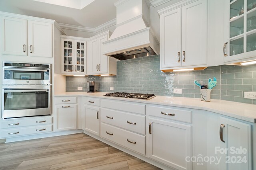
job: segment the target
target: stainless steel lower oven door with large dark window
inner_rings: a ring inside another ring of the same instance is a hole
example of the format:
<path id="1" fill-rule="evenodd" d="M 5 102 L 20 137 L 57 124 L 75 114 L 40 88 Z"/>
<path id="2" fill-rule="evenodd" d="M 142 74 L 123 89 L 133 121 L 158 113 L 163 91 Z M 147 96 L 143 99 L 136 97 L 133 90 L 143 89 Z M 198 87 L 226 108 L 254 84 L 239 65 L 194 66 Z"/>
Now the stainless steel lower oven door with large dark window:
<path id="1" fill-rule="evenodd" d="M 3 89 L 2 118 L 51 114 L 51 89 Z"/>

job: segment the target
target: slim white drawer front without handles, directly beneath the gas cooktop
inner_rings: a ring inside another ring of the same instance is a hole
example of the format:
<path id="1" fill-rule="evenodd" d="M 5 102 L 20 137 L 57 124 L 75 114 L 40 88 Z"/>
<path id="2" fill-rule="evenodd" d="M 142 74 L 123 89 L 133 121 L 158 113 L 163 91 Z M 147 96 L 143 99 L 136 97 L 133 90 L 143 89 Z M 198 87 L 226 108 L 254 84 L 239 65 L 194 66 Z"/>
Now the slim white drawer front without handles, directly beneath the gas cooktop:
<path id="1" fill-rule="evenodd" d="M 118 102 L 115 100 L 102 100 L 101 106 L 109 109 L 138 113 L 142 115 L 145 115 L 146 109 L 146 106 L 143 104 L 134 104 L 132 102 Z"/>

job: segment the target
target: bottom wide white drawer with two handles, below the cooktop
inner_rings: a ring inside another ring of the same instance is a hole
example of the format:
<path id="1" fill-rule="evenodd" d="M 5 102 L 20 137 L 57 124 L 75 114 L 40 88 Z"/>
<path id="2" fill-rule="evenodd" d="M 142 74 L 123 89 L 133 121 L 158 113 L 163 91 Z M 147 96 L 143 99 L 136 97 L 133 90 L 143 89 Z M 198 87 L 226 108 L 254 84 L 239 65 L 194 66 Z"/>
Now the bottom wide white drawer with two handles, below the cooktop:
<path id="1" fill-rule="evenodd" d="M 100 136 L 145 155 L 145 136 L 119 129 L 118 127 L 107 125 L 105 123 L 100 124 Z"/>

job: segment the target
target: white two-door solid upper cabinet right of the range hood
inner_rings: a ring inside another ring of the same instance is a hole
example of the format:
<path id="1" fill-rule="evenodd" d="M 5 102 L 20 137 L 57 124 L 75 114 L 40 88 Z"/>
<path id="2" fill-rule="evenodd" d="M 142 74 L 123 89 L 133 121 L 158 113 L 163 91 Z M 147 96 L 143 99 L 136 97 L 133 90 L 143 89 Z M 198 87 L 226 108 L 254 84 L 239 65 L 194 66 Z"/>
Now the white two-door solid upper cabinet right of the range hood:
<path id="1" fill-rule="evenodd" d="M 160 70 L 207 64 L 207 0 L 187 0 L 160 14 Z"/>

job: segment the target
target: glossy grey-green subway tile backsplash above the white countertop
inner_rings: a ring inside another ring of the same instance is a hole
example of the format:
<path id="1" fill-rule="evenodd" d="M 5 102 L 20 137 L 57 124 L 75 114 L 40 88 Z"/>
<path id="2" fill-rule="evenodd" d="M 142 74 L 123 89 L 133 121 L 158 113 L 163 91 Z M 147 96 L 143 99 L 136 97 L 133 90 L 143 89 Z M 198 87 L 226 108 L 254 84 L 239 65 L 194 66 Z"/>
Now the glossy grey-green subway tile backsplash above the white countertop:
<path id="1" fill-rule="evenodd" d="M 129 59 L 117 62 L 117 75 L 98 77 L 66 76 L 66 92 L 86 91 L 87 81 L 96 81 L 99 92 L 152 93 L 158 96 L 200 98 L 200 90 L 194 80 L 207 82 L 217 78 L 217 85 L 211 92 L 212 99 L 256 104 L 256 100 L 244 99 L 244 92 L 256 92 L 256 66 L 212 66 L 205 70 L 187 72 L 161 72 L 159 55 Z M 110 91 L 114 87 L 114 91 Z M 182 94 L 174 94 L 174 88 L 181 88 Z"/>

